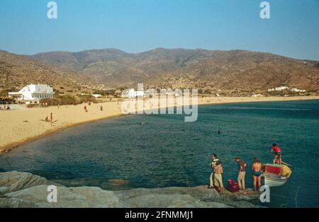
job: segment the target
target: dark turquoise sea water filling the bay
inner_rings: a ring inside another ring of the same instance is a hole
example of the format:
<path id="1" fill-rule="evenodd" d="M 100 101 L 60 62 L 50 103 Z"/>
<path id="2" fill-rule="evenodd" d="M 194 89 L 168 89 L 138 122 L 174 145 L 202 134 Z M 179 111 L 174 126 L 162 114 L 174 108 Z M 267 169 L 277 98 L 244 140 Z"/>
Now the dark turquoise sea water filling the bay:
<path id="1" fill-rule="evenodd" d="M 210 156 L 224 165 L 224 184 L 237 177 L 240 156 L 272 161 L 273 142 L 293 175 L 271 188 L 269 206 L 319 206 L 319 100 L 203 105 L 197 122 L 181 115 L 129 115 L 65 129 L 0 157 L 3 170 L 28 171 L 65 185 L 104 189 L 208 184 Z M 147 122 L 141 125 L 140 122 Z M 221 134 L 216 134 L 220 130 Z M 123 187 L 110 179 L 130 182 Z"/>

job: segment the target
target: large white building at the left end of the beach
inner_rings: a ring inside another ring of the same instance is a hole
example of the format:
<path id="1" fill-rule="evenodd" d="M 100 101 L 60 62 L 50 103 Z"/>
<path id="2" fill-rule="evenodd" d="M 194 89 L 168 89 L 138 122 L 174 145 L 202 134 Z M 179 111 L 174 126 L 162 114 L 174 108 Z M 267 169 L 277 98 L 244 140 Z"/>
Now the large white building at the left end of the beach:
<path id="1" fill-rule="evenodd" d="M 39 103 L 41 99 L 53 98 L 53 95 L 53 88 L 44 84 L 31 84 L 18 92 L 9 92 L 9 97 L 26 101 L 26 103 Z"/>

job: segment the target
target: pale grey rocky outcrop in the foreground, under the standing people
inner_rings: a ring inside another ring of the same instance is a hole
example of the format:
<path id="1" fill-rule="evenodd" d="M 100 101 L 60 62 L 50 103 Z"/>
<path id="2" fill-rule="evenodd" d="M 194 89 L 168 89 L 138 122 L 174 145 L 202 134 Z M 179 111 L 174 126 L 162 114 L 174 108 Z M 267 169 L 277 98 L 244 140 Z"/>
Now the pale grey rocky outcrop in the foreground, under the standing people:
<path id="1" fill-rule="evenodd" d="M 99 187 L 57 185 L 57 202 L 47 201 L 48 185 L 43 177 L 30 173 L 0 173 L 0 207 L 259 207 L 251 201 L 258 194 L 247 190 L 232 194 L 227 190 L 199 187 L 166 187 L 108 191 Z"/>

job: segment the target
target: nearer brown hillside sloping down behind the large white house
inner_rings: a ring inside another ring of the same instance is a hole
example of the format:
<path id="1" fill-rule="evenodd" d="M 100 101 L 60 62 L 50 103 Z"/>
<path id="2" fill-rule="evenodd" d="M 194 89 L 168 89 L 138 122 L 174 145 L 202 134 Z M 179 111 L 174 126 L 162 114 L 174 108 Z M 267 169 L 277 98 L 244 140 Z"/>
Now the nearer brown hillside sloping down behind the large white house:
<path id="1" fill-rule="evenodd" d="M 28 84 L 46 83 L 56 91 L 81 92 L 96 83 L 72 71 L 63 71 L 28 56 L 0 50 L 0 91 L 19 90 Z"/>

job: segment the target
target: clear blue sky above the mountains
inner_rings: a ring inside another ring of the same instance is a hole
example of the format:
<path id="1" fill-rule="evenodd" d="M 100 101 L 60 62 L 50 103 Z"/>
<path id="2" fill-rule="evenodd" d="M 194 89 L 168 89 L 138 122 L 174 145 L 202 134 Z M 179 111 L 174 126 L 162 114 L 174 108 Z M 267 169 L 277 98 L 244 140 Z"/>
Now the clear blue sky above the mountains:
<path id="1" fill-rule="evenodd" d="M 0 0 L 0 49 L 17 54 L 114 47 L 247 49 L 319 60 L 319 0 Z"/>

